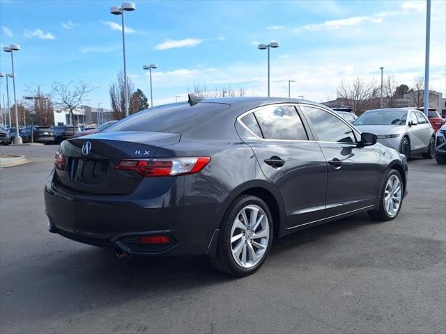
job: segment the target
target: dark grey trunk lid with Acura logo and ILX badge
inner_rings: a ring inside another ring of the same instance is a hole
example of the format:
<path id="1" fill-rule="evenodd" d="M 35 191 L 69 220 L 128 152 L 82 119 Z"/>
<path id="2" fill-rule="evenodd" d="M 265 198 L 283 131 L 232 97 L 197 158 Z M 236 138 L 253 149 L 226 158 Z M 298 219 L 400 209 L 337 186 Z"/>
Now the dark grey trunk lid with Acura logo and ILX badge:
<path id="1" fill-rule="evenodd" d="M 72 138 L 61 144 L 66 164 L 56 166 L 56 182 L 83 193 L 132 193 L 142 176 L 132 170 L 116 170 L 118 161 L 148 159 L 158 148 L 179 141 L 179 134 L 160 132 L 102 132 Z"/>

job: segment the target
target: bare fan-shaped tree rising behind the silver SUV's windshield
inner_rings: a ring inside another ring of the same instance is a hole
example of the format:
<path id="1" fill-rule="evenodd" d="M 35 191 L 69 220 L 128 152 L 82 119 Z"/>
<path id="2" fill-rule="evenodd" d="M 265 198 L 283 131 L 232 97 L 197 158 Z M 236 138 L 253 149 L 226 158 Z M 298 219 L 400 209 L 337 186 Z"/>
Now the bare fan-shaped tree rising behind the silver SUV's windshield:
<path id="1" fill-rule="evenodd" d="M 379 88 L 374 80 L 365 82 L 360 78 L 356 78 L 350 85 L 342 80 L 336 89 L 337 99 L 350 106 L 356 115 L 376 106 L 378 92 Z"/>

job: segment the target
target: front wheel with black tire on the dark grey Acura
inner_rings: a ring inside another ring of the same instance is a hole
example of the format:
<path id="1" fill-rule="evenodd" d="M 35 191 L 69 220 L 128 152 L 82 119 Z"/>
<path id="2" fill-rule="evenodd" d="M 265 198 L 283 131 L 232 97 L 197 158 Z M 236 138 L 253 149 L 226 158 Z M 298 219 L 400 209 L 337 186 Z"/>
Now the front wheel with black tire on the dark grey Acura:
<path id="1" fill-rule="evenodd" d="M 397 182 L 395 186 L 393 186 L 393 182 Z M 399 184 L 399 191 L 397 190 L 397 186 Z M 387 171 L 383 189 L 380 192 L 379 205 L 377 209 L 370 210 L 367 212 L 371 218 L 374 218 L 378 221 L 391 221 L 396 218 L 401 210 L 401 206 L 403 205 L 403 194 L 404 194 L 404 185 L 403 180 L 401 179 L 401 175 L 398 170 L 390 169 Z M 397 208 L 394 206 L 399 199 L 399 205 Z"/>

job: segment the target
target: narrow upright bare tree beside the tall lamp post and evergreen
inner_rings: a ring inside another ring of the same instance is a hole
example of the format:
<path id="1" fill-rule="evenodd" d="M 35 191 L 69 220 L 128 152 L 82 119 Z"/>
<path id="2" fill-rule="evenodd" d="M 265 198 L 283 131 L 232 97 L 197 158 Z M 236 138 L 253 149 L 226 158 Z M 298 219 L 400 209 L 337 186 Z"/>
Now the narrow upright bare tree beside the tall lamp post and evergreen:
<path id="1" fill-rule="evenodd" d="M 134 87 L 132 81 L 127 79 L 127 89 L 125 89 L 125 77 L 124 72 L 119 71 L 116 76 L 117 82 L 112 82 L 109 86 L 110 101 L 112 103 L 113 119 L 121 120 L 125 118 L 125 93 L 129 98 L 129 113 L 134 113 L 132 104 L 130 104 L 130 97 L 134 93 Z"/>

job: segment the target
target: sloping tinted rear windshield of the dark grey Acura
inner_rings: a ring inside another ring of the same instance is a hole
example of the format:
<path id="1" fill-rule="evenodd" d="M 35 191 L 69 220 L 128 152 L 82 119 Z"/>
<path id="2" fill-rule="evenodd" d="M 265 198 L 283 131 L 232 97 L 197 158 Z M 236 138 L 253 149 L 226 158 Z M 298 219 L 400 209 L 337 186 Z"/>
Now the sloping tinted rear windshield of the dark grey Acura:
<path id="1" fill-rule="evenodd" d="M 170 104 L 139 111 L 120 120 L 104 132 L 146 131 L 183 134 L 217 127 L 217 118 L 224 116 L 229 105 L 220 103 Z M 232 124 L 235 122 L 233 120 Z"/>

